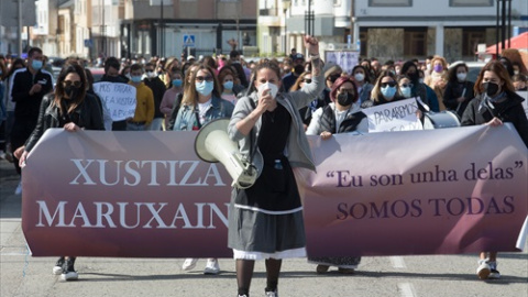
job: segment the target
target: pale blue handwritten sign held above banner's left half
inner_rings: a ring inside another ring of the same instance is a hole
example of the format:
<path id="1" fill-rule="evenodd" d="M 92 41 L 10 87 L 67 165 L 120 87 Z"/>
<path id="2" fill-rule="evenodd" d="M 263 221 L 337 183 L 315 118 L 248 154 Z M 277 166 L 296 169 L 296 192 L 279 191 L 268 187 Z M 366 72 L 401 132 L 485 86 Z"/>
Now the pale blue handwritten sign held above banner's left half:
<path id="1" fill-rule="evenodd" d="M 128 118 L 134 118 L 136 105 L 136 89 L 134 86 L 101 81 L 94 84 L 94 91 L 101 98 L 112 121 L 123 121 Z"/>

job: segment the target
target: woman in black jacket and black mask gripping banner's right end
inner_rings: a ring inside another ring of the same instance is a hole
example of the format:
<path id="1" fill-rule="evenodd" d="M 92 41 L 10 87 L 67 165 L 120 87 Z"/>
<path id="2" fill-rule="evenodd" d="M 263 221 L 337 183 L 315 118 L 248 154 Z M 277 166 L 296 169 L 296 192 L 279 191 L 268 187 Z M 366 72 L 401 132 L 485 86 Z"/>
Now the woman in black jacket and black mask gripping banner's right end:
<path id="1" fill-rule="evenodd" d="M 498 61 L 491 61 L 481 70 L 471 100 L 462 116 L 462 125 L 487 124 L 498 127 L 514 124 L 528 146 L 528 119 L 521 106 L 524 99 L 515 92 L 507 69 Z M 481 252 L 476 275 L 481 279 L 498 279 L 497 252 Z"/>

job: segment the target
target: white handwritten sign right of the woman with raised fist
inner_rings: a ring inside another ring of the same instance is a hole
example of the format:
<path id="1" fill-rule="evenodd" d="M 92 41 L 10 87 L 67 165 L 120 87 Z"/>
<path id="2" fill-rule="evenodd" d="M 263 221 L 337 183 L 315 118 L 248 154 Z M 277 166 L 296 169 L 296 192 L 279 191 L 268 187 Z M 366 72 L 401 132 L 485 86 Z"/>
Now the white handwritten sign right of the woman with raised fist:
<path id="1" fill-rule="evenodd" d="M 416 117 L 418 103 L 415 98 L 365 108 L 362 111 L 369 119 L 369 133 L 422 130 Z"/>

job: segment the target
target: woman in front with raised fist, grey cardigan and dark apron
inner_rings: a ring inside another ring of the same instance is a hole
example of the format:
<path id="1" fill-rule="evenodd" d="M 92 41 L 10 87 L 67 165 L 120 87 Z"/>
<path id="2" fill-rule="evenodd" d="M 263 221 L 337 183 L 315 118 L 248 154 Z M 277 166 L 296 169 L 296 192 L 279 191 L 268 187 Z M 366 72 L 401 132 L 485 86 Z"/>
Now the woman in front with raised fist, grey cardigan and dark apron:
<path id="1" fill-rule="evenodd" d="M 278 92 L 280 69 L 273 62 L 255 67 L 248 96 L 233 111 L 228 134 L 257 170 L 249 188 L 233 188 L 229 248 L 237 260 L 239 296 L 250 296 L 255 260 L 265 260 L 266 296 L 278 296 L 282 258 L 306 256 L 302 205 L 292 167 L 315 169 L 299 109 L 324 88 L 319 43 L 305 36 L 311 57 L 312 82 L 293 92 Z"/>

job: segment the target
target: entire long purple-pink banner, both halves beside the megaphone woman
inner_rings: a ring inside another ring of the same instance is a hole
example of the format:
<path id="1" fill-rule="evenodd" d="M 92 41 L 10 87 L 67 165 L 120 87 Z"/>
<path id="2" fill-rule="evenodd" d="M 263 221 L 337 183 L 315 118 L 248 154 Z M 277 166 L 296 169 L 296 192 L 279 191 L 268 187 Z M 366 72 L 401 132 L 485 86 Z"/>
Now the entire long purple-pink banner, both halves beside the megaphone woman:
<path id="1" fill-rule="evenodd" d="M 35 256 L 231 257 L 231 178 L 196 132 L 48 130 L 23 169 Z M 310 255 L 515 251 L 527 150 L 508 127 L 310 138 L 298 170 Z"/>

